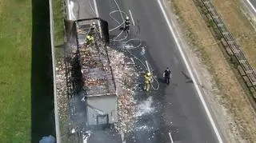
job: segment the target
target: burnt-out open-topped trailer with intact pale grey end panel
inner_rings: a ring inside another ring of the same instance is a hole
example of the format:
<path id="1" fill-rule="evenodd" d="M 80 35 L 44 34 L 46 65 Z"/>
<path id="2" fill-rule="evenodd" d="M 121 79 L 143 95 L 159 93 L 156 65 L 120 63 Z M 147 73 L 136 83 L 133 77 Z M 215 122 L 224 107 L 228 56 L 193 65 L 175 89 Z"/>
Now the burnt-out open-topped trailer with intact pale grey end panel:
<path id="1" fill-rule="evenodd" d="M 86 109 L 86 129 L 114 125 L 118 121 L 118 96 L 110 59 L 107 23 L 98 19 L 78 20 L 76 38 L 82 73 L 79 97 Z M 87 36 L 93 37 L 89 43 Z"/>

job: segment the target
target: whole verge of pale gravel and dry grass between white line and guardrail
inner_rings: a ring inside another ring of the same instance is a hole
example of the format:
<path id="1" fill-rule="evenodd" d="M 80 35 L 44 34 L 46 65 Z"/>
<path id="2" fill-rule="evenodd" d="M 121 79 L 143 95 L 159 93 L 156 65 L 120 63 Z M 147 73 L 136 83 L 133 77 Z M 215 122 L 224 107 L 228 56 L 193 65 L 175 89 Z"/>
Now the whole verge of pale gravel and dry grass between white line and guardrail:
<path id="1" fill-rule="evenodd" d="M 183 38 L 187 45 L 186 54 L 197 70 L 204 98 L 223 136 L 229 142 L 255 141 L 254 129 L 250 127 L 255 125 L 254 113 L 246 101 L 246 93 L 226 62 L 220 43 L 212 36 L 193 1 L 167 2 L 171 2 L 169 6 L 175 14 L 181 34 L 179 38 Z"/>

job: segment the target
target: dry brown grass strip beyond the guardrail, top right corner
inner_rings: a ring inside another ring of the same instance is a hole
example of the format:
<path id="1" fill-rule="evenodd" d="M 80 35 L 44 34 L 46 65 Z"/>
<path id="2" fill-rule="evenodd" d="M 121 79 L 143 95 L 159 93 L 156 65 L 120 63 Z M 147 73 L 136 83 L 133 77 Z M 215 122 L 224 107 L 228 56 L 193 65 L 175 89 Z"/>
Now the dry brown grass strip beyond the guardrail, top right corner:
<path id="1" fill-rule="evenodd" d="M 228 30 L 241 44 L 250 65 L 256 67 L 256 31 L 242 13 L 241 0 L 215 0 L 214 6 L 226 23 Z"/>

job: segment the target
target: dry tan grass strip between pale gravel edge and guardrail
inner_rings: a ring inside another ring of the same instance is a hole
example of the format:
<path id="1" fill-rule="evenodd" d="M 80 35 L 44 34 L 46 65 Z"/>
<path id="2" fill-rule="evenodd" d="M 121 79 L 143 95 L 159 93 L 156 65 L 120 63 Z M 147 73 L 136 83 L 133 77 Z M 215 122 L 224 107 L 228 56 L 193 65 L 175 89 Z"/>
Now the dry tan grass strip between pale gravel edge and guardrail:
<path id="1" fill-rule="evenodd" d="M 246 100 L 246 93 L 239 84 L 238 78 L 232 71 L 232 67 L 226 61 L 223 47 L 216 35 L 213 36 L 209 27 L 211 23 L 204 22 L 193 0 L 170 0 L 178 22 L 182 26 L 182 33 L 186 42 L 194 52 L 202 59 L 204 65 L 214 77 L 220 89 L 213 98 L 228 111 L 223 114 L 226 124 L 222 130 L 230 137 L 230 142 L 254 142 L 256 141 L 256 125 L 254 111 Z M 178 13 L 177 13 L 178 11 Z M 223 122 L 223 121 L 222 121 Z"/>

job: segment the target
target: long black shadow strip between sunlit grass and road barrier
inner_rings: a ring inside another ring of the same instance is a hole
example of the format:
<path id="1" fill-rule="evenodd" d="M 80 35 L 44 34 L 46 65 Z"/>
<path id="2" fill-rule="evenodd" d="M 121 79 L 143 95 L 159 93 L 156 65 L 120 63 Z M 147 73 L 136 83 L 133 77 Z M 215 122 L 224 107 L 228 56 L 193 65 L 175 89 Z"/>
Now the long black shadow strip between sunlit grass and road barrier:
<path id="1" fill-rule="evenodd" d="M 32 0 L 31 142 L 55 135 L 48 0 Z"/>

